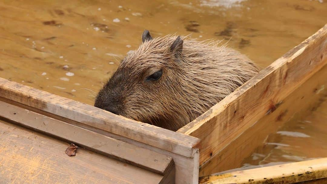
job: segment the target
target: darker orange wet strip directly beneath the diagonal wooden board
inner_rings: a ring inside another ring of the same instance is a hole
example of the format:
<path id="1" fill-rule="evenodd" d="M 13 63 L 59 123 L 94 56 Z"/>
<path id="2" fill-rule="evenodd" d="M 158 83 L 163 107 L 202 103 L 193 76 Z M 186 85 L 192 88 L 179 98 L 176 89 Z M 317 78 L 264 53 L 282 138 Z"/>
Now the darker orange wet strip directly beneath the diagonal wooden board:
<path id="1" fill-rule="evenodd" d="M 308 114 L 317 107 L 325 92 L 327 92 L 327 65 L 283 100 L 283 103 L 264 116 L 242 135 L 205 162 L 199 171 L 199 176 L 207 176 L 241 167 L 242 161 L 253 153 L 253 150 L 292 118 L 295 114 Z M 260 133 L 259 133 L 260 132 Z"/>

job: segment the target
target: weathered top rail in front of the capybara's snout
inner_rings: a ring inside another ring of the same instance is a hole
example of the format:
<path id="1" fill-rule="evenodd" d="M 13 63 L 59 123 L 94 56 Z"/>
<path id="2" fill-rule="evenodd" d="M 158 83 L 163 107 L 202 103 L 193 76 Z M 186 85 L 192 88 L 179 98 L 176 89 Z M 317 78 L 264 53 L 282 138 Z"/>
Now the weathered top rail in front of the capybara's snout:
<path id="1" fill-rule="evenodd" d="M 200 140 L 164 128 L 133 121 L 103 109 L 0 78 L 0 97 L 103 129 L 185 157 L 193 157 Z"/>

